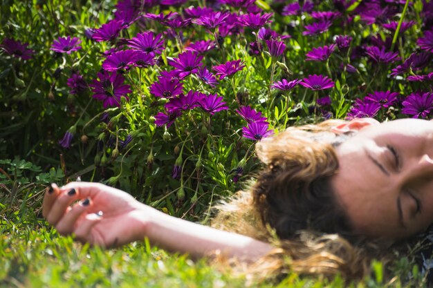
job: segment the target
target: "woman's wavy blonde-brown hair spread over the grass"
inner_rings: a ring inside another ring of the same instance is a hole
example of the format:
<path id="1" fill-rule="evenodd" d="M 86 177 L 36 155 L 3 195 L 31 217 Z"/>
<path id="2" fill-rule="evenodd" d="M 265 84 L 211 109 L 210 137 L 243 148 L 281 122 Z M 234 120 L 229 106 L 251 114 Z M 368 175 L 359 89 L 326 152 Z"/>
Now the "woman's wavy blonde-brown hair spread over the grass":
<path id="1" fill-rule="evenodd" d="M 218 229 L 275 243 L 249 271 L 264 278 L 293 271 L 358 279 L 369 272 L 371 251 L 389 245 L 354 235 L 335 200 L 329 184 L 338 169 L 335 146 L 347 136 L 335 135 L 331 127 L 342 123 L 291 127 L 257 143 L 264 169 L 247 191 L 218 207 L 212 222 Z"/>

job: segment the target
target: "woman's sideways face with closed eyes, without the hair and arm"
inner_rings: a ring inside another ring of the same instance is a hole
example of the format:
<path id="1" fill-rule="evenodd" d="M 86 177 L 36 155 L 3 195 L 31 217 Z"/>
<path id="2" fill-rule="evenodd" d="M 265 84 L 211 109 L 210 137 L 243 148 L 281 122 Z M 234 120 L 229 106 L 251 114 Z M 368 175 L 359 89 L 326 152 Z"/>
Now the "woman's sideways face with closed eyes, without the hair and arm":
<path id="1" fill-rule="evenodd" d="M 433 122 L 369 125 L 338 148 L 331 180 L 356 232 L 399 239 L 433 222 Z"/>

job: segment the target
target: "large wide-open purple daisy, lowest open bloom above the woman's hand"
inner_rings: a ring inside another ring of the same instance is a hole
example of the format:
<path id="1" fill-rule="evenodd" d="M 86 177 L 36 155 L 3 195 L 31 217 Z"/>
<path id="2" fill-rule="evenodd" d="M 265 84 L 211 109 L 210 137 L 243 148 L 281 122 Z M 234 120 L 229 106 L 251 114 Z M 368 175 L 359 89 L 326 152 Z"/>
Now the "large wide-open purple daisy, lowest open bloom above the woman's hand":
<path id="1" fill-rule="evenodd" d="M 122 85 L 125 81 L 123 75 L 116 72 L 109 73 L 103 71 L 102 73 L 98 73 L 98 79 L 99 81 L 93 80 L 89 86 L 93 88 L 93 98 L 103 101 L 104 108 L 120 106 L 120 99 L 122 97 L 129 100 L 127 94 L 131 93 L 132 90 L 129 85 Z"/>

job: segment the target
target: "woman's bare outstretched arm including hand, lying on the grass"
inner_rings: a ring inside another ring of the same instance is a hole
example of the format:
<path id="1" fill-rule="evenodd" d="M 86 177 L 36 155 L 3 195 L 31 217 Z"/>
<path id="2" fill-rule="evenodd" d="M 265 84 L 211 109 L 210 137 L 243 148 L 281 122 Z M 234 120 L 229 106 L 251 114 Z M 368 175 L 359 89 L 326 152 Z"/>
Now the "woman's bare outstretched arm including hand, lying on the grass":
<path id="1" fill-rule="evenodd" d="M 246 261 L 272 249 L 266 242 L 174 218 L 99 183 L 53 184 L 44 196 L 43 215 L 62 235 L 74 234 L 81 242 L 102 247 L 147 237 L 152 244 L 193 257 L 219 250 Z"/>

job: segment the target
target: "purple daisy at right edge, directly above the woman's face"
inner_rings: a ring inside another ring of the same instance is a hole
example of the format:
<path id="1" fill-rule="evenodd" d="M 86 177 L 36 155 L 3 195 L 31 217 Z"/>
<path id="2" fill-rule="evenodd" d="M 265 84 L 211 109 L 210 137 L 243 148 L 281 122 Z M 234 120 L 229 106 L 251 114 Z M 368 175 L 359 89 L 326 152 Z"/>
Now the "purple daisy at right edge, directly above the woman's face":
<path id="1" fill-rule="evenodd" d="M 401 113 L 412 115 L 412 118 L 427 118 L 433 109 L 433 93 L 412 93 L 402 104 Z"/>

